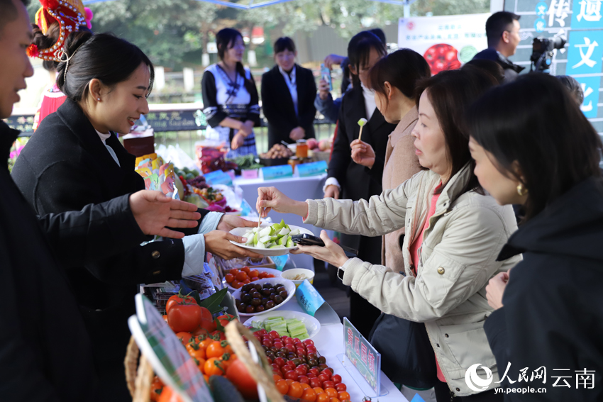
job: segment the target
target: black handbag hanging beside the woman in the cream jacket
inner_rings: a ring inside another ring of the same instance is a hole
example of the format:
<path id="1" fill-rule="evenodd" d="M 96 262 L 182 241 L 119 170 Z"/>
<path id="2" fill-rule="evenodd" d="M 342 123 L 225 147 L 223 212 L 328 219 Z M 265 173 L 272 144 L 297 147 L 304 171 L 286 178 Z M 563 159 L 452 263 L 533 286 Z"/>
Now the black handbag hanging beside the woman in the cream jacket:
<path id="1" fill-rule="evenodd" d="M 424 323 L 381 313 L 370 344 L 381 353 L 381 369 L 393 382 L 429 389 L 438 381 L 436 355 Z"/>

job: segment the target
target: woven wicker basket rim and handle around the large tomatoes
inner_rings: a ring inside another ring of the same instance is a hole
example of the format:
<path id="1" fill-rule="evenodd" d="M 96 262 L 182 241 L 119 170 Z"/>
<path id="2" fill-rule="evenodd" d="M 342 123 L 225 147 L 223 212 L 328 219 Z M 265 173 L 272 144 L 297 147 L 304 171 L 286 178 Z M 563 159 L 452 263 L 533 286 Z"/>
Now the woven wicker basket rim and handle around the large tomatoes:
<path id="1" fill-rule="evenodd" d="M 263 367 L 260 367 L 258 363 L 253 361 L 253 357 L 251 357 L 251 353 L 247 345 L 245 345 L 243 336 L 255 346 L 262 365 L 269 367 L 262 345 L 255 339 L 255 336 L 253 336 L 253 333 L 248 328 L 236 320 L 226 325 L 226 339 L 238 359 L 245 364 L 255 382 L 262 385 L 266 391 L 266 396 L 270 398 L 271 402 L 284 402 L 283 396 L 277 390 L 274 381 L 272 381 L 272 376 Z M 131 337 L 126 350 L 126 359 L 123 362 L 126 367 L 126 384 L 128 384 L 128 390 L 133 402 L 149 402 L 150 388 L 154 375 L 153 367 L 151 367 L 144 355 L 140 355 L 140 359 L 138 358 L 139 355 L 140 350 L 138 349 L 138 345 L 136 345 L 134 337 Z"/>

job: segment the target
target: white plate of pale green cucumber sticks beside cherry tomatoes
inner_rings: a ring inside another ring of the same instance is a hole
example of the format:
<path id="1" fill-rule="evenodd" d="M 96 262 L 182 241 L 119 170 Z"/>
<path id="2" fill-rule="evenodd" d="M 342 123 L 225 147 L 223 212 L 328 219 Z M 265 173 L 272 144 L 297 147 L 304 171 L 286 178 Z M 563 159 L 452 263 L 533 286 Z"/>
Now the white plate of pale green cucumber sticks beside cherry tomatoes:
<path id="1" fill-rule="evenodd" d="M 277 333 L 288 337 L 297 337 L 299 340 L 309 339 L 318 335 L 321 323 L 316 318 L 299 311 L 270 311 L 249 318 L 243 325 L 251 328 L 263 328 L 268 332 L 275 330 Z"/>

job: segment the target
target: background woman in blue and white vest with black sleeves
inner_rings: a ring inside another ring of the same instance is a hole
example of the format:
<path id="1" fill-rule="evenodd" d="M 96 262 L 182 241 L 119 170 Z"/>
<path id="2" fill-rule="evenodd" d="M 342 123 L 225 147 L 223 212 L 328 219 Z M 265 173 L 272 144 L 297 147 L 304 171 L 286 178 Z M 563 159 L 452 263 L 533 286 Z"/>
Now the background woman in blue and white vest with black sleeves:
<path id="1" fill-rule="evenodd" d="M 258 89 L 249 69 L 243 67 L 245 43 L 236 29 L 216 34 L 220 62 L 207 67 L 201 80 L 206 138 L 226 145 L 226 157 L 256 155 L 253 128 L 260 126 Z"/>

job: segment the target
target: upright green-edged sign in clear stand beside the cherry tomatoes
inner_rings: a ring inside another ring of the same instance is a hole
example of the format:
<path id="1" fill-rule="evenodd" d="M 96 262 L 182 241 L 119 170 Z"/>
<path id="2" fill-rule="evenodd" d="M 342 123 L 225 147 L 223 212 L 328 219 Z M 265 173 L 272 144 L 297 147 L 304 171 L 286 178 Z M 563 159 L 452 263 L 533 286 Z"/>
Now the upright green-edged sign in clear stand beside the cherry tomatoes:
<path id="1" fill-rule="evenodd" d="M 376 395 L 381 389 L 381 354 L 360 335 L 348 318 L 343 318 L 343 339 L 345 340 L 345 356 L 358 369 L 370 384 Z"/>

